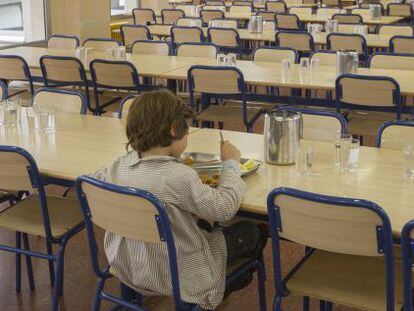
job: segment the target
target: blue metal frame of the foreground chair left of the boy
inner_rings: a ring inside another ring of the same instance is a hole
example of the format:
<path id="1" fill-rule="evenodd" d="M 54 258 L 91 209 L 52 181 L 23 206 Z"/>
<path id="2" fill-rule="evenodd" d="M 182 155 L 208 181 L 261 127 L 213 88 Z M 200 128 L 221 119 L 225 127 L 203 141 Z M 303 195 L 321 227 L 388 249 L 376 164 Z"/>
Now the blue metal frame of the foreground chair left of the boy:
<path id="1" fill-rule="evenodd" d="M 25 255 L 26 264 L 28 267 L 29 274 L 29 283 L 30 288 L 35 288 L 34 278 L 33 278 L 33 269 L 31 264 L 31 257 L 46 259 L 49 262 L 49 274 L 50 282 L 53 288 L 53 298 L 51 310 L 58 310 L 59 298 L 63 295 L 63 280 L 64 280 L 64 254 L 66 245 L 70 238 L 80 232 L 84 224 L 81 223 L 74 228 L 71 228 L 65 235 L 60 238 L 56 238 L 52 234 L 52 229 L 50 226 L 49 210 L 47 208 L 47 199 L 46 193 L 43 187 L 43 180 L 40 176 L 39 169 L 37 167 L 35 159 L 32 155 L 26 150 L 15 147 L 15 146 L 1 146 L 0 152 L 10 152 L 23 156 L 29 163 L 27 167 L 28 175 L 30 176 L 33 188 L 38 190 L 39 200 L 40 200 L 40 209 L 42 213 L 45 234 L 46 234 L 46 248 L 47 254 L 40 253 L 37 251 L 31 251 L 29 246 L 28 234 L 16 232 L 16 247 L 11 247 L 8 245 L 0 245 L 0 250 L 11 252 L 16 254 L 16 291 L 20 292 L 21 290 L 21 255 Z M 24 249 L 21 248 L 21 238 L 23 237 Z M 53 254 L 52 244 L 58 244 L 59 249 L 56 255 Z M 56 264 L 56 269 L 54 264 Z"/>

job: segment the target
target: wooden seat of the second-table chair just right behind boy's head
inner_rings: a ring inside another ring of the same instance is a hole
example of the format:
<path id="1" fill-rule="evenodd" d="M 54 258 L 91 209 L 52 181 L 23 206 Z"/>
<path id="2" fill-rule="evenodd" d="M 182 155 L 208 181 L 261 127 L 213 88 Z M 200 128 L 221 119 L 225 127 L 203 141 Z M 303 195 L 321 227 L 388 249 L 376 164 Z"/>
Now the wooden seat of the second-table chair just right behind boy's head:
<path id="1" fill-rule="evenodd" d="M 262 109 L 247 108 L 247 118 L 253 119 Z M 211 105 L 204 109 L 198 116 L 199 121 L 240 121 L 242 120 L 242 106 L 216 106 Z"/>

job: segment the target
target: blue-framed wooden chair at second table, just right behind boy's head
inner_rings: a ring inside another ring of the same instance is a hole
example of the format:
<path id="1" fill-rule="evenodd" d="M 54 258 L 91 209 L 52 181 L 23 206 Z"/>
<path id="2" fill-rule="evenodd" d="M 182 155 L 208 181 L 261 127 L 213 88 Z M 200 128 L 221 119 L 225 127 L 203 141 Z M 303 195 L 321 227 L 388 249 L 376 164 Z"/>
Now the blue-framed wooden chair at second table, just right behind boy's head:
<path id="1" fill-rule="evenodd" d="M 240 112 L 247 132 L 263 114 L 262 108 L 247 107 L 247 89 L 242 72 L 235 67 L 192 66 L 188 70 L 187 81 L 190 92 L 190 105 L 198 111 L 197 120 L 204 122 L 239 121 Z M 201 107 L 196 103 L 195 93 L 201 94 Z M 234 99 L 240 106 L 212 105 L 211 100 Z M 241 108 L 241 110 L 240 110 Z"/>

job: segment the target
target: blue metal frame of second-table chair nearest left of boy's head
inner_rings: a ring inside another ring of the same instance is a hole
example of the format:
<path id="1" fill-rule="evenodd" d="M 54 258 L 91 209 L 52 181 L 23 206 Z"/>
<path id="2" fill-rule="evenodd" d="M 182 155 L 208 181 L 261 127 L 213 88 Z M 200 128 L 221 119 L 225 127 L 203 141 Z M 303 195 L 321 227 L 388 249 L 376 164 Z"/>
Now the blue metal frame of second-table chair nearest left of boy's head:
<path id="1" fill-rule="evenodd" d="M 95 71 L 95 64 L 100 63 L 100 64 L 114 64 L 114 65 L 127 65 L 131 68 L 132 71 L 132 80 L 135 83 L 135 86 L 133 87 L 126 87 L 126 86 L 120 86 L 120 85 L 106 85 L 106 84 L 101 84 L 99 82 L 97 82 L 97 77 L 96 77 L 96 71 Z M 139 75 L 138 75 L 138 70 L 135 68 L 135 66 L 128 62 L 128 61 L 109 61 L 109 60 L 103 60 L 103 59 L 94 59 L 93 61 L 90 62 L 89 64 L 89 70 L 91 72 L 91 77 L 92 77 L 92 85 L 93 85 L 93 91 L 95 94 L 95 104 L 96 104 L 96 109 L 98 110 L 98 114 L 101 114 L 102 108 L 112 104 L 114 101 L 110 101 L 108 103 L 105 103 L 103 105 L 99 104 L 99 89 L 107 89 L 107 90 L 113 90 L 113 89 L 117 89 L 117 90 L 125 90 L 125 91 L 135 91 L 140 93 L 141 91 L 150 91 L 150 90 L 154 90 L 157 87 L 156 86 L 152 86 L 152 85 L 142 85 L 139 82 Z"/>

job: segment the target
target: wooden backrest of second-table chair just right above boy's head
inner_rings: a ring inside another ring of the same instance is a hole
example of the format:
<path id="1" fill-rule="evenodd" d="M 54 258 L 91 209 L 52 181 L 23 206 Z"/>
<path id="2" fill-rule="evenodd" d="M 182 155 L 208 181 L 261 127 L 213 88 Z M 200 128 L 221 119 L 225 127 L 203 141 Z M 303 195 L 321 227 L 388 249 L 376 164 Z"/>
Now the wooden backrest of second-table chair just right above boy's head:
<path id="1" fill-rule="evenodd" d="M 192 66 L 188 70 L 190 95 L 241 94 L 245 92 L 243 74 L 234 67 Z"/>

